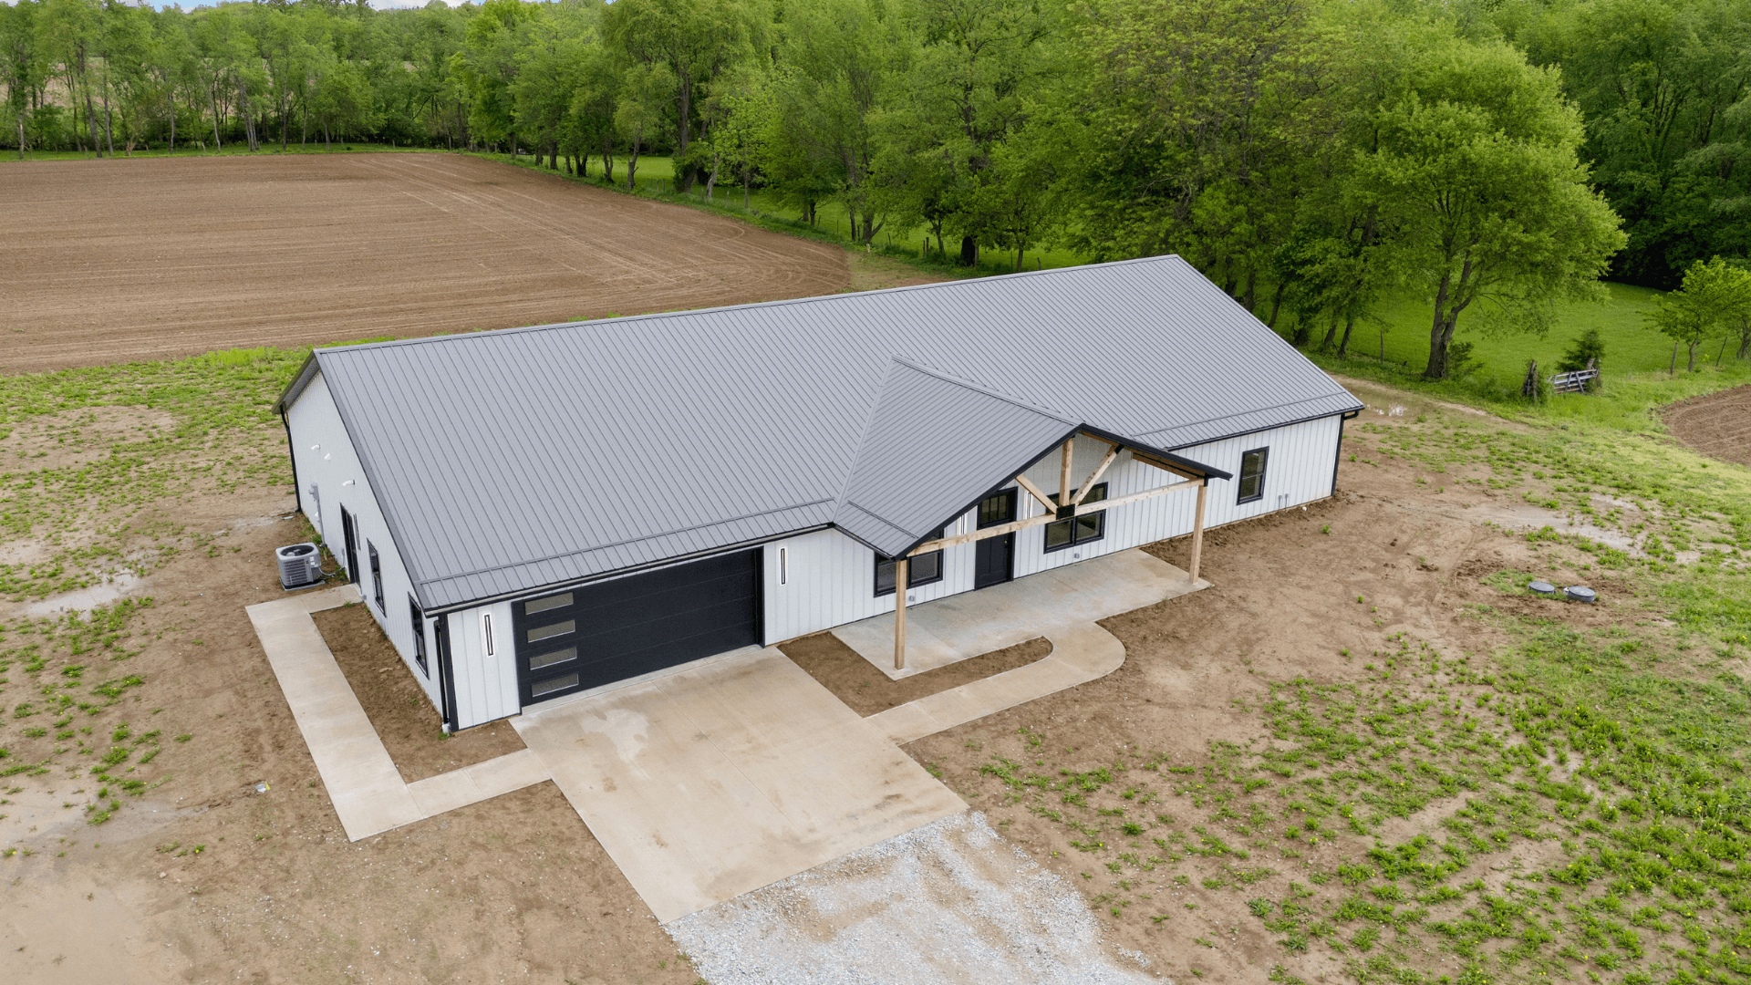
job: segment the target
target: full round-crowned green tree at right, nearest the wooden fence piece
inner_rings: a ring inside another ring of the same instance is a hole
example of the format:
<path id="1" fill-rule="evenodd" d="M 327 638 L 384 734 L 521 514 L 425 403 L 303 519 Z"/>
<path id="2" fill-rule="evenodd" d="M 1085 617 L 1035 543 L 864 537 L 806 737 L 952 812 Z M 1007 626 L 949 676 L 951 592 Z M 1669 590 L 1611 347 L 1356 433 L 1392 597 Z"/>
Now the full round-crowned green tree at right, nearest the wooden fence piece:
<path id="1" fill-rule="evenodd" d="M 1434 298 L 1427 379 L 1448 377 L 1459 317 L 1544 331 L 1590 298 L 1625 237 L 1576 156 L 1581 119 L 1555 72 L 1499 42 L 1422 53 L 1378 116 L 1361 186 L 1397 230 L 1399 270 Z"/>

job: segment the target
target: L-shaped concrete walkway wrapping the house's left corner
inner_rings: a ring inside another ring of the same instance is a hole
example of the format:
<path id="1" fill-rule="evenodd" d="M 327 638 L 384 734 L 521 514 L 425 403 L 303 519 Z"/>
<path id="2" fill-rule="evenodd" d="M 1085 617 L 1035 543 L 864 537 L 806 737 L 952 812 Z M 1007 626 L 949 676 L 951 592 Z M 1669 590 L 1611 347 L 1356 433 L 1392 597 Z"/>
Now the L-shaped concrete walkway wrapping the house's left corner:
<path id="1" fill-rule="evenodd" d="M 299 592 L 245 608 L 348 840 L 382 834 L 550 778 L 541 761 L 525 748 L 403 783 L 383 740 L 310 619 L 312 612 L 350 601 L 359 601 L 355 585 Z"/>

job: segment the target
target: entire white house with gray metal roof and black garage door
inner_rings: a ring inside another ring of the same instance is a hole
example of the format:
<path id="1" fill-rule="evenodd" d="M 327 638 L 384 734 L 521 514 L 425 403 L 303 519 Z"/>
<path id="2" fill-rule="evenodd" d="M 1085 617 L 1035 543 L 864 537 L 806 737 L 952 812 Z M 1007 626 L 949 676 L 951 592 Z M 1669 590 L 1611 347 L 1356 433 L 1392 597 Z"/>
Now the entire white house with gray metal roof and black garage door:
<path id="1" fill-rule="evenodd" d="M 1175 256 L 317 349 L 280 400 L 452 729 L 1320 500 L 1359 408 Z"/>

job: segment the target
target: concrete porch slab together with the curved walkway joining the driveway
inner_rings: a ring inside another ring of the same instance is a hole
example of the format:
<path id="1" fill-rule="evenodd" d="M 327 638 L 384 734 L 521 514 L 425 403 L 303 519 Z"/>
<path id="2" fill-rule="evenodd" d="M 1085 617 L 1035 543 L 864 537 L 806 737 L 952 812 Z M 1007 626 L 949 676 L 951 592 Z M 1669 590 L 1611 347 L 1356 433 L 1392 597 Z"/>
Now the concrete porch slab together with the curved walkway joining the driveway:
<path id="1" fill-rule="evenodd" d="M 893 615 L 833 629 L 890 678 L 911 677 L 1037 636 L 1052 643 L 1040 661 L 939 691 L 870 715 L 897 745 L 984 719 L 1107 677 L 1124 664 L 1124 643 L 1094 620 L 1210 587 L 1143 550 L 1124 550 L 965 596 L 907 608 L 907 670 L 893 670 Z M 923 633 L 919 633 L 923 629 Z M 914 648 L 912 640 L 923 641 Z"/>

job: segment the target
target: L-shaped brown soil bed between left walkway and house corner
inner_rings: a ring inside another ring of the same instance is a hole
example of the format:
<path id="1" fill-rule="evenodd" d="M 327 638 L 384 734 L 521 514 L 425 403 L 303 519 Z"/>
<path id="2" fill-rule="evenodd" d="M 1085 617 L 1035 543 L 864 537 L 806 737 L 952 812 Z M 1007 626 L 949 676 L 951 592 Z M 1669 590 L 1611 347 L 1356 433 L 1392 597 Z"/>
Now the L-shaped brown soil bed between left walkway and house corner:
<path id="1" fill-rule="evenodd" d="M 447 736 L 438 708 L 364 605 L 329 608 L 313 619 L 404 783 L 527 748 L 508 722 Z"/>

